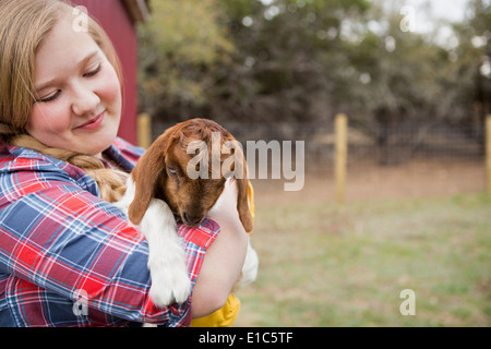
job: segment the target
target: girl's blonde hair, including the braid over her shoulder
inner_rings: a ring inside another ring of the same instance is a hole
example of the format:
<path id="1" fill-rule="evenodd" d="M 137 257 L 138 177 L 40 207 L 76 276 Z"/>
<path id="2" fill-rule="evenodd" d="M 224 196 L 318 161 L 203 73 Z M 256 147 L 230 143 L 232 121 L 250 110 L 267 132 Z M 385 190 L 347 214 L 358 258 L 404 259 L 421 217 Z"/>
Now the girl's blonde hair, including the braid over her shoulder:
<path id="1" fill-rule="evenodd" d="M 96 180 L 103 198 L 112 202 L 124 192 L 122 176 L 106 169 L 95 157 L 48 147 L 27 133 L 34 103 L 35 55 L 58 21 L 72 11 L 68 0 L 0 1 L 0 136 L 11 145 L 32 148 L 82 168 Z M 121 64 L 110 39 L 91 16 L 87 29 L 121 82 Z"/>

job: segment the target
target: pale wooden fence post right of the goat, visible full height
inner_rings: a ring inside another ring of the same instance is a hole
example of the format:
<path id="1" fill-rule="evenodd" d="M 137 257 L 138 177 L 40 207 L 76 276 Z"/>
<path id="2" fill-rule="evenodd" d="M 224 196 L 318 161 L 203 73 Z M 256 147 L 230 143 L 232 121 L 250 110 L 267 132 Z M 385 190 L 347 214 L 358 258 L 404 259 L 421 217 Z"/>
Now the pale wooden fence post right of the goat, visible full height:
<path id="1" fill-rule="evenodd" d="M 336 164 L 335 164 L 335 183 L 336 183 L 336 202 L 343 204 L 345 202 L 346 173 L 348 158 L 348 117 L 344 113 L 336 116 Z"/>

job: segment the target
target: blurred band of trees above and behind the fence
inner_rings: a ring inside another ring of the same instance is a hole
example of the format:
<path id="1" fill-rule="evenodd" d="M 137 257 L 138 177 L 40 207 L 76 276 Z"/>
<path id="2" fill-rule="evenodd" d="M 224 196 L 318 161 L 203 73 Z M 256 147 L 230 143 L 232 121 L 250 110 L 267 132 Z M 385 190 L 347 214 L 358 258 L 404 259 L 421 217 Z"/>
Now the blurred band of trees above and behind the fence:
<path id="1" fill-rule="evenodd" d="M 491 112 L 490 1 L 469 0 L 462 23 L 434 22 L 430 33 L 403 31 L 404 1 L 390 3 L 153 1 L 139 31 L 140 109 L 166 122 L 346 112 L 382 144 L 384 128 L 404 122 L 480 127 Z"/>

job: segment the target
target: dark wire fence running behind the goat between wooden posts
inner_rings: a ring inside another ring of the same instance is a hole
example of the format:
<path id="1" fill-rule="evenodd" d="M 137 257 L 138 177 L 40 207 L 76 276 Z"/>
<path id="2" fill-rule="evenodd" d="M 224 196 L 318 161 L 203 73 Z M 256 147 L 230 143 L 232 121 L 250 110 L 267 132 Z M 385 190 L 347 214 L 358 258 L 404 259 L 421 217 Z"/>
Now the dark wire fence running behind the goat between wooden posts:
<path id="1" fill-rule="evenodd" d="M 334 121 L 315 123 L 221 123 L 244 147 L 248 141 L 303 142 L 307 171 L 325 171 L 333 168 L 335 159 Z M 155 123 L 153 139 L 171 124 Z M 484 160 L 484 127 L 428 124 L 406 122 L 378 124 L 368 128 L 350 124 L 348 128 L 348 169 L 361 164 L 397 166 L 412 159 Z M 298 155 L 298 153 L 297 153 Z M 270 152 L 272 156 L 272 152 Z M 272 159 L 274 161 L 275 159 Z"/>

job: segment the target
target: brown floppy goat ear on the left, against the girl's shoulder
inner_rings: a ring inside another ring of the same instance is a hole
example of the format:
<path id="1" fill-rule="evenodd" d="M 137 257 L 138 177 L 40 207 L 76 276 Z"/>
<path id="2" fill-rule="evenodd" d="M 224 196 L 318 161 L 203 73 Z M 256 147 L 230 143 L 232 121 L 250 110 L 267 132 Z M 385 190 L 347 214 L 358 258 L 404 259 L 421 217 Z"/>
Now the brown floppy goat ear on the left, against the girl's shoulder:
<path id="1" fill-rule="evenodd" d="M 139 159 L 136 167 L 131 172 L 135 193 L 128 209 L 128 217 L 134 225 L 142 221 L 152 198 L 155 197 L 157 185 L 163 184 L 159 178 L 165 176 L 163 172 L 166 169 L 165 154 L 168 147 L 168 132 L 160 135 Z"/>

